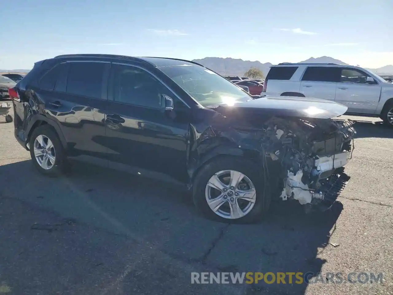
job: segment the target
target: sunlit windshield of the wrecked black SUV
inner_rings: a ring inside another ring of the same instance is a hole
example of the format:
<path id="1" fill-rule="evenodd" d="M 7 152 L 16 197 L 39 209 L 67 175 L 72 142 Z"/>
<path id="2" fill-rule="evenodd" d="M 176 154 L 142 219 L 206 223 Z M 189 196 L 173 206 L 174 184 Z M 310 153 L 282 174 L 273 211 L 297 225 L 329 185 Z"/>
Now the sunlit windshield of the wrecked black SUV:
<path id="1" fill-rule="evenodd" d="M 160 70 L 204 107 L 234 105 L 252 99 L 232 82 L 202 66 L 163 66 Z"/>

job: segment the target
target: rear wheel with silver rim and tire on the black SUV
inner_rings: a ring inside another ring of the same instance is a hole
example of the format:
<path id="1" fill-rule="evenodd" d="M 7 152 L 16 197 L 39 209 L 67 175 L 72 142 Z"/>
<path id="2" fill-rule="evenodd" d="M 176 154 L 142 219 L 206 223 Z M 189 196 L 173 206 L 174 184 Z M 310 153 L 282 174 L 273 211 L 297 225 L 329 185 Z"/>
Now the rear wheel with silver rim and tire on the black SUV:
<path id="1" fill-rule="evenodd" d="M 30 155 L 35 168 L 48 176 L 57 176 L 64 166 L 64 152 L 56 132 L 48 125 L 37 127 L 30 138 Z"/>

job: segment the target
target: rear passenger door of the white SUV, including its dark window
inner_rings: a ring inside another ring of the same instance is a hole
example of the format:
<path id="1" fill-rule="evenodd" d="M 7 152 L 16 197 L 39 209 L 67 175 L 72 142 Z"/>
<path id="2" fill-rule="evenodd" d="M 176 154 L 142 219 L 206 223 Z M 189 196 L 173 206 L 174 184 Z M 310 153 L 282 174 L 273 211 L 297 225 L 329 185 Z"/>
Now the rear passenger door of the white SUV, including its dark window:
<path id="1" fill-rule="evenodd" d="M 305 97 L 334 101 L 340 68 L 331 66 L 308 66 L 301 78 L 300 92 Z"/>

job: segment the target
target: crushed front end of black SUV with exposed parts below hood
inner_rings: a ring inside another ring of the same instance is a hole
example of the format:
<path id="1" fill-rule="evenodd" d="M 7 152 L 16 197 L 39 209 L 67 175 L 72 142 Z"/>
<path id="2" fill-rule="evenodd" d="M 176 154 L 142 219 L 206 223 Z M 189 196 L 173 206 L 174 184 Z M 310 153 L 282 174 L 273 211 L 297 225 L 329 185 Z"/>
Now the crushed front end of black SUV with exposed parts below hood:
<path id="1" fill-rule="evenodd" d="M 273 117 L 264 124 L 265 157 L 280 164 L 280 198 L 298 200 L 307 210 L 326 210 L 336 201 L 349 176 L 343 166 L 351 157 L 356 134 L 350 120 Z"/>

